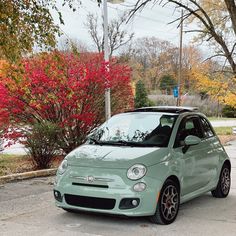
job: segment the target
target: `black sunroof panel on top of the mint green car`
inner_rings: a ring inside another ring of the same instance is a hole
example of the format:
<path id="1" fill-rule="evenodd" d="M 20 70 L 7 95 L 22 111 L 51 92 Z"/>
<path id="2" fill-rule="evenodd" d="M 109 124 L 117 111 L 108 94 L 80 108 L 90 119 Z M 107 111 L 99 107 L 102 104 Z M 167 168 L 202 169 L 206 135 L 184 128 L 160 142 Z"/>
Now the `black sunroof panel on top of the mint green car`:
<path id="1" fill-rule="evenodd" d="M 153 106 L 141 107 L 128 112 L 166 112 L 166 113 L 184 113 L 184 112 L 198 112 L 198 107 L 178 107 L 178 106 Z"/>

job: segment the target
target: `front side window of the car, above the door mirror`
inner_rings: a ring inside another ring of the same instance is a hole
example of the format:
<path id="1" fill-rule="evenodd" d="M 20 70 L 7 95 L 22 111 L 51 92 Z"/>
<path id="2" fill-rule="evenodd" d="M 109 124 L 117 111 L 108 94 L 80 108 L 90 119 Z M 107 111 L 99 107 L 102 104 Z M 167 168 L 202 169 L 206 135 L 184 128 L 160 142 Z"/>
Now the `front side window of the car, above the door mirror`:
<path id="1" fill-rule="evenodd" d="M 194 135 L 199 138 L 203 138 L 203 133 L 198 117 L 188 117 L 182 120 L 176 134 L 174 148 L 183 146 L 184 139 L 188 135 Z"/>

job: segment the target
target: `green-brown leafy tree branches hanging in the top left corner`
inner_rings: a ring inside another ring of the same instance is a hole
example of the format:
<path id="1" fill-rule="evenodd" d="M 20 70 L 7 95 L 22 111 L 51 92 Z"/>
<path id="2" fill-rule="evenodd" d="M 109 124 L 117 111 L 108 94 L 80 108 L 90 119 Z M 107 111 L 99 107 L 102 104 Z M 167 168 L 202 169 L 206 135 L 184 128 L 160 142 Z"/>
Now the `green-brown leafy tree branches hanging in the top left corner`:
<path id="1" fill-rule="evenodd" d="M 74 11 L 77 0 L 63 0 Z M 35 46 L 48 49 L 56 45 L 60 34 L 50 10 L 63 19 L 55 0 L 1 0 L 0 1 L 0 59 L 18 61 Z"/>

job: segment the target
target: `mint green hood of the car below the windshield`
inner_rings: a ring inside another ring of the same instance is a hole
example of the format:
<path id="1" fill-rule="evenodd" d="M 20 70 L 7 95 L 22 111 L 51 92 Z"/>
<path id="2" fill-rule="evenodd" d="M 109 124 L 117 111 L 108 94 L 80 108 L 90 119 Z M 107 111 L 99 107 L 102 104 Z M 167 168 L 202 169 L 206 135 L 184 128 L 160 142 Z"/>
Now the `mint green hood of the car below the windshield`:
<path id="1" fill-rule="evenodd" d="M 76 148 L 66 157 L 69 165 L 125 169 L 137 163 L 154 165 L 168 158 L 168 148 L 87 144 Z"/>

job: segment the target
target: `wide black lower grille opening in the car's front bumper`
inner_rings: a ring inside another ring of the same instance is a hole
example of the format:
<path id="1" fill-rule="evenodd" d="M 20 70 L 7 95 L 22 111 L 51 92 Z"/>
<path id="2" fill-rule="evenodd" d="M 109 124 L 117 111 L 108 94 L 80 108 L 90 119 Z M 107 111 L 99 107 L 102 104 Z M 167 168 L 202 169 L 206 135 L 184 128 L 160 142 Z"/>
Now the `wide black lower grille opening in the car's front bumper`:
<path id="1" fill-rule="evenodd" d="M 116 200 L 111 198 L 86 197 L 65 194 L 67 204 L 78 207 L 111 210 L 115 207 Z"/>

